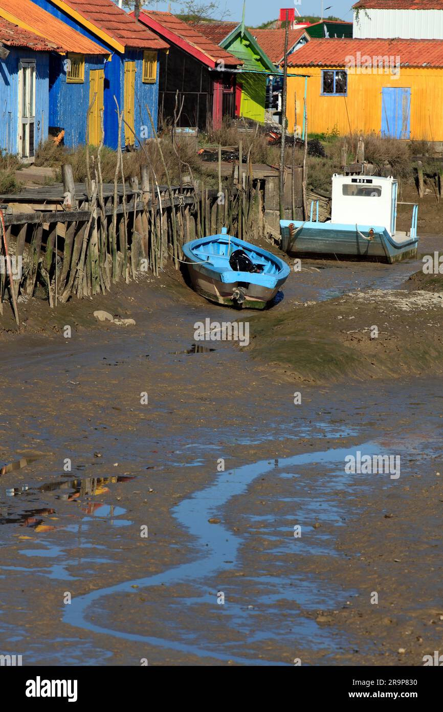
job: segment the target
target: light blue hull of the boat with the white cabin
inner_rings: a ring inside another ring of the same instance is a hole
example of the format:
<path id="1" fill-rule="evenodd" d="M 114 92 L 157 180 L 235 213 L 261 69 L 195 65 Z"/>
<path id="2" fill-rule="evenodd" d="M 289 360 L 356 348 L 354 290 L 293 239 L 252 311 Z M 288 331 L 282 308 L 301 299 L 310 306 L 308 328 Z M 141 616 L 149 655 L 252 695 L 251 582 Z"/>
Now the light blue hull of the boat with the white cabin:
<path id="1" fill-rule="evenodd" d="M 372 239 L 368 238 L 373 230 Z M 398 262 L 417 256 L 418 238 L 396 242 L 383 227 L 280 221 L 282 250 L 291 256 L 327 257 Z"/>

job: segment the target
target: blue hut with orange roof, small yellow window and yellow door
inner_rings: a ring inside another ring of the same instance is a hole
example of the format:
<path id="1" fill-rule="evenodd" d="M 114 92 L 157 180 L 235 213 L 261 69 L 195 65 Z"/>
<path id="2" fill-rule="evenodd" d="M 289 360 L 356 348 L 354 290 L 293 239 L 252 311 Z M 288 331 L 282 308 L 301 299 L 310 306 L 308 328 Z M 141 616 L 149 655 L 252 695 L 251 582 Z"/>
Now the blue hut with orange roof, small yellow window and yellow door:
<path id="1" fill-rule="evenodd" d="M 35 137 L 35 145 L 48 136 L 48 131 L 53 134 L 62 130 L 65 132 L 65 145 L 68 147 L 84 144 L 87 138 L 90 142 L 95 142 L 96 137 L 100 137 L 103 94 L 103 80 L 100 80 L 100 77 L 103 77 L 109 52 L 31 0 L 20 0 L 19 3 L 16 0 L 0 0 L 0 17 L 13 21 L 23 31 L 33 32 L 52 49 L 46 55 L 44 70 L 43 67 L 40 68 L 41 61 L 38 66 L 36 63 L 35 73 L 29 78 L 29 91 L 32 93 L 35 85 L 36 90 L 43 92 L 44 87 L 48 103 L 46 116 L 42 120 L 44 134 L 40 131 L 41 135 Z M 41 83 L 43 76 L 46 81 L 44 85 Z M 23 77 L 25 81 L 26 75 Z M 98 119 L 94 120 L 94 117 L 90 116 L 90 131 L 87 137 L 87 113 L 95 90 Z M 38 129 L 38 120 L 34 126 Z"/>

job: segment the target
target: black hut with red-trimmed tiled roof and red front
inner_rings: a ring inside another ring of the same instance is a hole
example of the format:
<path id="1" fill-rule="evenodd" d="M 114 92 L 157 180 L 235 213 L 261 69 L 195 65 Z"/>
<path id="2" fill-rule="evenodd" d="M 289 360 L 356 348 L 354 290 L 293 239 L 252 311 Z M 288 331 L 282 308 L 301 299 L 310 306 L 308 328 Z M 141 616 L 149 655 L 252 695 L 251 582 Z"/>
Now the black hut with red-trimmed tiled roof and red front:
<path id="1" fill-rule="evenodd" d="M 183 110 L 178 124 L 205 130 L 235 117 L 237 59 L 201 32 L 169 12 L 142 10 L 139 22 L 166 41 L 169 53 L 160 57 L 159 115 L 174 119 L 174 106 Z"/>

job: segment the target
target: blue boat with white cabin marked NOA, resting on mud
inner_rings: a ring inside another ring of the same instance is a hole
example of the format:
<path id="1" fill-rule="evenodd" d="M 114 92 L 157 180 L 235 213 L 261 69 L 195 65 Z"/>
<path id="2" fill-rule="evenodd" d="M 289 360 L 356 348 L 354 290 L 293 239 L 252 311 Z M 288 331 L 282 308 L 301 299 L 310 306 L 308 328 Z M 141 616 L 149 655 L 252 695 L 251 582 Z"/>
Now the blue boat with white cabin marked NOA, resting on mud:
<path id="1" fill-rule="evenodd" d="M 417 256 L 417 204 L 410 231 L 396 229 L 397 181 L 393 177 L 332 177 L 331 220 L 280 220 L 281 247 L 291 256 L 368 259 L 388 263 Z"/>

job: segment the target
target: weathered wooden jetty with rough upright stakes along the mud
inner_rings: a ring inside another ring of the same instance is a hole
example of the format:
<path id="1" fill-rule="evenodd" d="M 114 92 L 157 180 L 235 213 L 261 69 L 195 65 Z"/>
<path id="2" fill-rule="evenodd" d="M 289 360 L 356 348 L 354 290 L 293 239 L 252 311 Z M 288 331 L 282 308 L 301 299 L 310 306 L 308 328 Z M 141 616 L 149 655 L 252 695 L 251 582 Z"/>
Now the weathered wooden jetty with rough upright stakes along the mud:
<path id="1" fill-rule="evenodd" d="M 74 184 L 65 164 L 63 184 L 0 195 L 0 313 L 6 293 L 11 301 L 46 298 L 52 307 L 105 294 L 139 271 L 158 276 L 169 258 L 179 267 L 183 243 L 223 226 L 240 239 L 263 234 L 265 181 L 235 168 L 230 181 L 219 176 L 218 189 L 206 189 L 198 182 L 159 186 L 147 166 L 124 184 Z M 14 274 L 4 268 L 7 254 Z"/>

